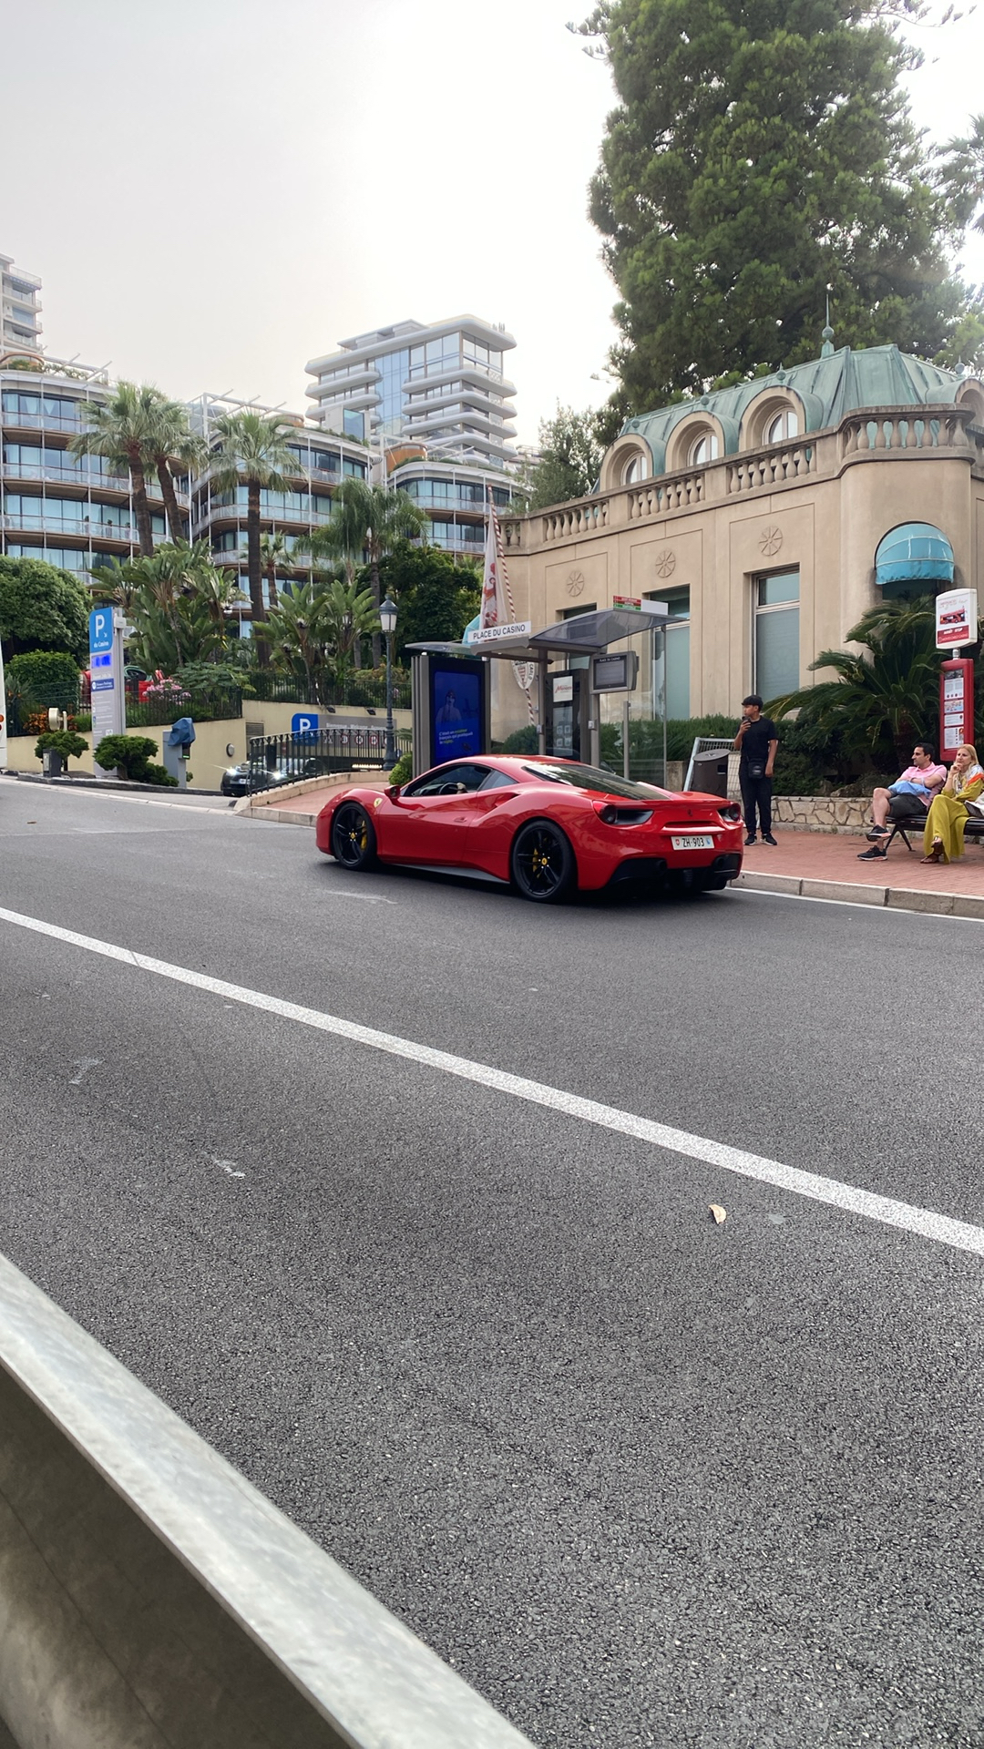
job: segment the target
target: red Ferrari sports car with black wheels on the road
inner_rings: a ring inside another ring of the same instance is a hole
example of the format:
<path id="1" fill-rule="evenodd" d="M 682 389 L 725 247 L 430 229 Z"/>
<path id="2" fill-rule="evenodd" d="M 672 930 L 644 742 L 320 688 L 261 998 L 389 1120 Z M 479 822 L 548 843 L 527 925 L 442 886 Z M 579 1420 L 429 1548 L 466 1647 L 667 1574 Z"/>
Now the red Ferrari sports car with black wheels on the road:
<path id="1" fill-rule="evenodd" d="M 741 812 L 720 796 L 629 784 L 567 759 L 481 756 L 387 791 L 341 791 L 317 819 L 341 868 L 375 862 L 513 883 L 550 904 L 625 880 L 690 873 L 720 892 L 741 871 Z"/>

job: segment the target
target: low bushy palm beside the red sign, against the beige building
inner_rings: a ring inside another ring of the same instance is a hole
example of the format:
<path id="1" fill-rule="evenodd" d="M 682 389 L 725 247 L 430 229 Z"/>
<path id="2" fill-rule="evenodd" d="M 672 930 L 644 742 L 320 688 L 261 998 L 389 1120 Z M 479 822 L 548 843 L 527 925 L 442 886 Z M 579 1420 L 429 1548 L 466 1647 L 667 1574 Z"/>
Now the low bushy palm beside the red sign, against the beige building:
<path id="1" fill-rule="evenodd" d="M 847 637 L 861 652 L 821 651 L 811 663 L 811 670 L 833 668 L 837 680 L 798 687 L 774 700 L 769 714 L 798 710 L 800 721 L 840 731 L 849 752 L 905 766 L 912 740 L 930 731 L 938 708 L 933 600 L 881 602 Z"/>

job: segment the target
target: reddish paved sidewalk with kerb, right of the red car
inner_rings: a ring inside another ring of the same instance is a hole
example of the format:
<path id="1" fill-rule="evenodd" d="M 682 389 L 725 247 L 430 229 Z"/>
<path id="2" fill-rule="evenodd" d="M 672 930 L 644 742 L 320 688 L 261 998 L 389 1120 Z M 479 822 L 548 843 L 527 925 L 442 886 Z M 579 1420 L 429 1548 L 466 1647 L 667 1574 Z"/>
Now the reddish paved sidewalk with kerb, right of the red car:
<path id="1" fill-rule="evenodd" d="M 961 862 L 928 868 L 921 840 L 912 854 L 900 838 L 886 857 L 860 862 L 868 848 L 853 833 L 797 833 L 779 827 L 772 850 L 758 841 L 744 852 L 739 887 L 791 892 L 805 899 L 851 899 L 907 911 L 984 918 L 984 847 L 968 845 Z"/>

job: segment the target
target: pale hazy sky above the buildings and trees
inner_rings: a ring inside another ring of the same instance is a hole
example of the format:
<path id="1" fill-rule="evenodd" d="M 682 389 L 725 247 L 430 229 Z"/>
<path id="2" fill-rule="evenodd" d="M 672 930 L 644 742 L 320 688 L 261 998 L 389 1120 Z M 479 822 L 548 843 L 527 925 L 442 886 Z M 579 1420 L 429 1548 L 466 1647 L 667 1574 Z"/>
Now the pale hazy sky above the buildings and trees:
<path id="1" fill-rule="evenodd" d="M 606 399 L 587 215 L 602 61 L 578 0 L 33 0 L 4 23 L 0 250 L 49 353 L 303 411 L 340 339 L 473 313 L 517 339 L 517 430 Z M 933 140 L 984 108 L 984 9 L 917 30 Z M 984 238 L 963 254 L 984 282 Z M 821 317 L 818 315 L 818 325 Z"/>

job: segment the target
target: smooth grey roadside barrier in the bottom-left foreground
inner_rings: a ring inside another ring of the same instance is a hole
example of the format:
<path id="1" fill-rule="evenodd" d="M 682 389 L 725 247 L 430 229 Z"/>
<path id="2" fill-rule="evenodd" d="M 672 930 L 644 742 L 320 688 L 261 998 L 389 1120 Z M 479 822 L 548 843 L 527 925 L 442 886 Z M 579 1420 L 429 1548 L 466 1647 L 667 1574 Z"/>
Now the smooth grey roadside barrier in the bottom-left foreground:
<path id="1" fill-rule="evenodd" d="M 2 1258 L 0 1721 L 0 1749 L 529 1749 Z"/>

